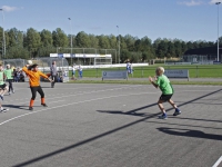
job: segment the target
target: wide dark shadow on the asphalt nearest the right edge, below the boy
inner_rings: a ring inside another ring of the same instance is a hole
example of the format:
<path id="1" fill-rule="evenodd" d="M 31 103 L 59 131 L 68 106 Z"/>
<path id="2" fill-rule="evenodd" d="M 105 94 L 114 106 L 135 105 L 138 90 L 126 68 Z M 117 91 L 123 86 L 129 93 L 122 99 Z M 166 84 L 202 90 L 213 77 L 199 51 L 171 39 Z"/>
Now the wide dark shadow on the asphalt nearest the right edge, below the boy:
<path id="1" fill-rule="evenodd" d="M 179 129 L 179 128 L 158 128 L 158 130 L 173 136 L 182 136 L 182 137 L 195 137 L 195 138 L 204 138 L 211 140 L 222 140 L 221 135 L 205 134 L 200 130 L 190 130 L 190 129 Z"/>

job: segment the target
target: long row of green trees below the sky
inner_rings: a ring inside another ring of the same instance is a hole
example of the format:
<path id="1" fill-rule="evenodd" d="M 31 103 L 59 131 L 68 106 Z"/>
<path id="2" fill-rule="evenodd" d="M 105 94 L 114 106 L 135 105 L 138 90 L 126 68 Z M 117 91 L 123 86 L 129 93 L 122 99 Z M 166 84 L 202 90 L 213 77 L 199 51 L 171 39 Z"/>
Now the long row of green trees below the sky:
<path id="1" fill-rule="evenodd" d="M 0 55 L 3 48 L 3 29 L 0 27 Z M 189 49 L 216 46 L 216 42 L 196 40 L 183 41 L 179 39 L 158 38 L 153 42 L 149 37 L 138 38 L 131 35 L 127 36 L 94 36 L 81 31 L 74 35 L 65 35 L 63 30 L 57 28 L 52 32 L 43 29 L 38 32 L 29 28 L 27 32 L 19 31 L 17 28 L 4 30 L 7 58 L 32 58 L 48 57 L 53 52 L 70 52 L 72 38 L 73 53 L 111 53 L 113 62 L 131 61 L 148 62 L 153 58 L 180 57 Z M 120 58 L 119 58 L 120 40 Z M 219 39 L 222 45 L 222 37 Z M 77 49 L 80 48 L 80 49 Z M 91 48 L 91 49 L 82 49 Z M 94 49 L 93 49 L 94 48 Z M 108 49 L 104 51 L 104 49 Z M 115 57 L 118 60 L 115 60 Z"/>

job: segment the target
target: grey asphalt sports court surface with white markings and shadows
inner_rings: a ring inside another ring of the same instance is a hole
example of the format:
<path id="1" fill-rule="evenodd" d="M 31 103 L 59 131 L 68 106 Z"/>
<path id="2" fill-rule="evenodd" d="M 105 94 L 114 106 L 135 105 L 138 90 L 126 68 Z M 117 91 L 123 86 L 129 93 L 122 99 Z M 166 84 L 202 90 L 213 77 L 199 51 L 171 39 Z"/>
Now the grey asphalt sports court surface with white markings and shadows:
<path id="1" fill-rule="evenodd" d="M 182 115 L 158 119 L 151 85 L 43 82 L 48 108 L 13 84 L 0 114 L 0 166 L 211 167 L 222 156 L 222 87 L 174 86 Z M 220 164 L 219 166 L 222 166 Z"/>

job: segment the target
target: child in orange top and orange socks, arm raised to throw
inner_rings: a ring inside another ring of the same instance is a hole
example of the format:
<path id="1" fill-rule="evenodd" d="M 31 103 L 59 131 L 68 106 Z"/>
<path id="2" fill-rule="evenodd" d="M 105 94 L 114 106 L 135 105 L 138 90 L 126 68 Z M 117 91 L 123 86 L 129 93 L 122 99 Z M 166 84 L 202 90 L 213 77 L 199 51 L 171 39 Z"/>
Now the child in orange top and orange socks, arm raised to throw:
<path id="1" fill-rule="evenodd" d="M 41 96 L 41 105 L 43 107 L 48 107 L 47 104 L 44 102 L 44 92 L 40 86 L 40 77 L 47 78 L 50 82 L 52 82 L 52 80 L 47 75 L 38 70 L 37 63 L 27 65 L 22 68 L 22 70 L 27 73 L 27 76 L 29 76 L 29 85 L 30 85 L 30 89 L 32 94 L 30 105 L 29 105 L 29 110 L 33 110 L 33 104 L 37 97 L 37 91 Z"/>

